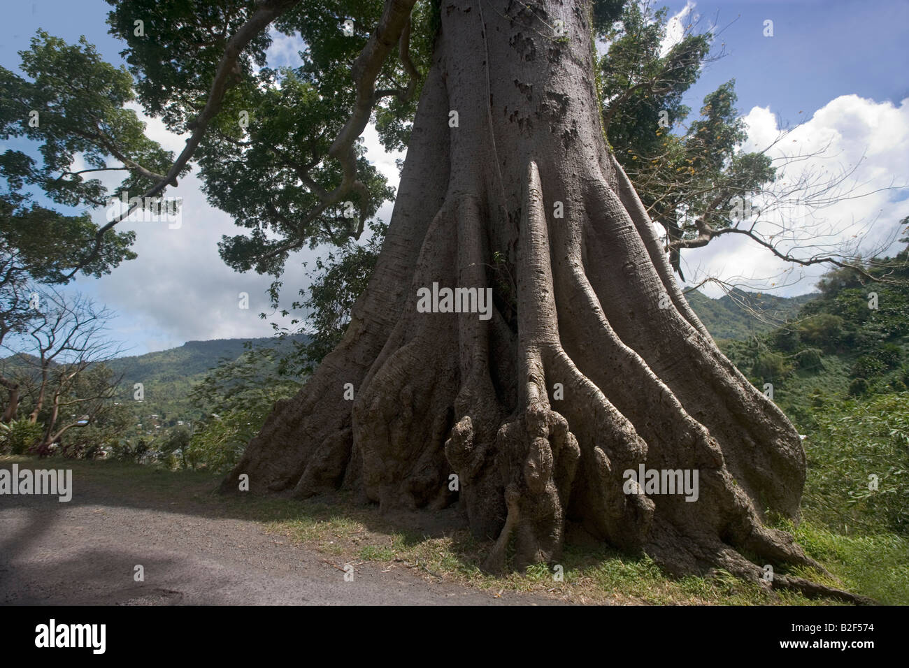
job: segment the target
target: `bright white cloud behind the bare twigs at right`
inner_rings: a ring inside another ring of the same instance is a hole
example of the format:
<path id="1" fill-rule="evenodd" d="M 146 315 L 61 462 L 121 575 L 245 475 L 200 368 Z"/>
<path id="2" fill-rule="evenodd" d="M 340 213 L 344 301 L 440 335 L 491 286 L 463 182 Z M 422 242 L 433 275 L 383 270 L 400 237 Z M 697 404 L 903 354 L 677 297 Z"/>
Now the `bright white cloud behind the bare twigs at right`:
<path id="1" fill-rule="evenodd" d="M 744 121 L 748 131 L 745 151 L 763 150 L 780 133 L 769 108 L 754 107 Z M 814 155 L 818 153 L 821 155 Z M 790 207 L 768 214 L 766 222 L 759 224 L 758 230 L 772 234 L 774 225 L 794 220 L 795 236 L 803 237 L 799 256 L 823 253 L 840 244 L 854 244 L 867 256 L 894 238 L 900 220 L 909 215 L 909 99 L 896 106 L 841 95 L 792 129 L 768 155 L 777 160 L 804 156 L 785 169 L 779 179 L 783 184 L 812 175 L 826 182 L 851 172 L 834 190 L 834 204 L 814 213 L 806 213 L 804 207 Z M 888 253 L 899 247 L 891 245 Z M 783 295 L 811 292 L 817 278 L 829 268 L 821 264 L 795 267 L 738 234 L 714 239 L 702 249 L 684 251 L 682 257 L 689 284 L 709 275 L 738 279 L 752 289 L 773 289 Z M 721 294 L 718 287 L 706 292 Z"/>

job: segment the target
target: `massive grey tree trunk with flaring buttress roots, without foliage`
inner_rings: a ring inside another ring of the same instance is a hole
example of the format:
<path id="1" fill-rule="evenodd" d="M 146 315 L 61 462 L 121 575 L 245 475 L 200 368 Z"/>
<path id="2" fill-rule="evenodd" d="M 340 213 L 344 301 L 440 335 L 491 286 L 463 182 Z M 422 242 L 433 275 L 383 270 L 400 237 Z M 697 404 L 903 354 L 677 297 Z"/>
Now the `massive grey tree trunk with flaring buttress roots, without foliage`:
<path id="1" fill-rule="evenodd" d="M 817 566 L 764 525 L 798 513 L 798 434 L 685 302 L 604 142 L 587 9 L 531 5 L 443 1 L 375 276 L 223 489 L 457 503 L 495 541 L 490 570 L 511 540 L 514 567 L 553 562 L 568 527 L 672 573 Z M 434 283 L 492 288 L 491 318 L 419 312 Z M 697 500 L 629 486 L 642 465 L 698 472 Z"/>

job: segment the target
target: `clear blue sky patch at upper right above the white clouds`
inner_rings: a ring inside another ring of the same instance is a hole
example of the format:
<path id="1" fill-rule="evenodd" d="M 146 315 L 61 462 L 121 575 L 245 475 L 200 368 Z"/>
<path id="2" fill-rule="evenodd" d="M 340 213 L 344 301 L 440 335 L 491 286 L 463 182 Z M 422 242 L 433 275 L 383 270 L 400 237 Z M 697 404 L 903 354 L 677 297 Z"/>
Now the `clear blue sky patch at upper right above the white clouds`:
<path id="1" fill-rule="evenodd" d="M 684 2 L 664 3 L 676 14 Z M 770 105 L 790 122 L 838 95 L 899 104 L 909 97 L 909 2 L 785 0 L 698 2 L 694 13 L 717 18 L 728 55 L 708 65 L 687 104 L 735 79 L 740 109 Z M 774 36 L 764 37 L 764 20 Z M 717 45 L 718 46 L 718 45 Z"/>

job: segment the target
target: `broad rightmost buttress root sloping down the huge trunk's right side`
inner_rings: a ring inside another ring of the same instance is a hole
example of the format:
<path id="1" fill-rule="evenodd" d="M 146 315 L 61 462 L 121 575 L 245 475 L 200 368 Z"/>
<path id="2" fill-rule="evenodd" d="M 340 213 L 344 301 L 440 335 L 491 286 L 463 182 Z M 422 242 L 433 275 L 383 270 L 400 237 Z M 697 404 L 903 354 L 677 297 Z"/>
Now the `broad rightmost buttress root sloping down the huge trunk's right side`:
<path id="1" fill-rule="evenodd" d="M 668 300 L 624 205 L 602 179 L 589 182 L 585 274 L 604 315 L 685 411 L 724 447 L 738 484 L 764 508 L 796 517 L 804 450 L 794 427 Z M 643 261 L 642 261 L 643 258 Z M 628 290 L 615 290 L 617 283 Z M 646 323 L 646 326 L 642 326 Z M 741 445 L 728 445 L 741 442 Z"/>

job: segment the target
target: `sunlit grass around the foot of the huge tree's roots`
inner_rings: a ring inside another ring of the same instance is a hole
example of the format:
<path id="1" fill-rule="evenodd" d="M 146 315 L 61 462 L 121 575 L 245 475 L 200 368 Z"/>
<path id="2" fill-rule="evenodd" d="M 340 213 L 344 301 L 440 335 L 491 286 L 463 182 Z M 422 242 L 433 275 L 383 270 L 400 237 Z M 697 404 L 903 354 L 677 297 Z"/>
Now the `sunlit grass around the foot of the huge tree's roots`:
<path id="1" fill-rule="evenodd" d="M 268 523 L 268 530 L 313 546 L 333 563 L 403 564 L 426 578 L 445 579 L 497 593 L 546 593 L 576 603 L 818 605 L 798 593 L 768 592 L 728 573 L 713 578 L 667 576 L 646 555 L 629 556 L 605 548 L 566 548 L 554 568 L 533 566 L 524 574 L 494 577 L 483 573 L 488 544 L 465 530 L 444 537 L 419 535 L 382 526 L 372 509 L 304 502 L 293 518 Z M 377 525 L 377 522 L 380 523 Z M 893 534 L 841 536 L 802 524 L 796 536 L 841 583 L 827 580 L 881 603 L 909 604 L 909 543 Z M 818 579 L 818 573 L 796 573 Z"/>

